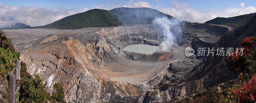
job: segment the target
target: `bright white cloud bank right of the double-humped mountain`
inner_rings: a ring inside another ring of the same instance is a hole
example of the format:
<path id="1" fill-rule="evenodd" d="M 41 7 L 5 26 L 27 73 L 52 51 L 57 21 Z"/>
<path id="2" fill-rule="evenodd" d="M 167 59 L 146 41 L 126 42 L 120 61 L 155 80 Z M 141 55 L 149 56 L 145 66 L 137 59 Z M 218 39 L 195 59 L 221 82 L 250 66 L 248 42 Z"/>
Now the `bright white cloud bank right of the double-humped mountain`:
<path id="1" fill-rule="evenodd" d="M 161 8 L 160 12 L 169 14 L 181 20 L 199 23 L 204 23 L 205 21 L 212 20 L 216 17 L 234 17 L 256 12 L 255 7 L 253 6 L 245 8 L 228 8 L 227 10 L 216 12 L 200 12 L 196 11 L 194 8 L 190 8 L 186 3 L 179 4 L 179 2 L 173 1 L 172 4 L 174 7 Z"/>

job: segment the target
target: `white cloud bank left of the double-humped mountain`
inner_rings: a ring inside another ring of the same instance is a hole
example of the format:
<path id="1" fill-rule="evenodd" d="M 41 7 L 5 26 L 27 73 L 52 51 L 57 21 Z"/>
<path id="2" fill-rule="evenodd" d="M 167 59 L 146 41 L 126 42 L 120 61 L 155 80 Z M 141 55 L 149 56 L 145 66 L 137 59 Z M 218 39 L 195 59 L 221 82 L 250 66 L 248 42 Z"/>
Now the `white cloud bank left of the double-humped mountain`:
<path id="1" fill-rule="evenodd" d="M 39 8 L 38 6 L 16 7 L 0 5 L 0 28 L 10 27 L 15 23 L 24 23 L 32 27 L 46 25 L 66 16 L 88 10 L 84 8 L 76 11 L 65 11 L 61 9 Z"/>

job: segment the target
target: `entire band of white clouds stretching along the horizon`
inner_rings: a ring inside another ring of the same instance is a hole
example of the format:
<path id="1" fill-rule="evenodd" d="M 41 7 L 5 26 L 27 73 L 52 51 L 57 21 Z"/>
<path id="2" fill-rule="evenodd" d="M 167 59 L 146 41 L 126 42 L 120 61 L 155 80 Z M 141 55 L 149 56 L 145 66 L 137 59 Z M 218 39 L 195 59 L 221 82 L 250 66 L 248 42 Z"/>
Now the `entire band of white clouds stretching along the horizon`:
<path id="1" fill-rule="evenodd" d="M 156 0 L 157 1 L 157 0 Z M 253 6 L 245 6 L 245 3 L 237 4 L 240 8 L 228 8 L 227 10 L 221 11 L 209 11 L 200 12 L 194 8 L 190 8 L 189 4 L 179 3 L 178 1 L 172 1 L 173 7 L 164 8 L 161 4 L 156 5 L 158 11 L 169 14 L 180 20 L 204 23 L 205 21 L 212 20 L 216 17 L 233 17 L 243 14 L 249 14 L 256 12 L 256 8 Z M 95 8 L 111 10 L 119 7 L 149 7 L 152 6 L 146 1 L 133 1 L 130 0 L 125 5 L 116 5 L 113 7 L 108 7 L 106 5 L 99 5 Z M 154 7 L 153 7 L 154 8 Z M 91 8 L 93 9 L 93 8 Z M 17 6 L 7 6 L 1 5 L 0 2 L 0 28 L 11 27 L 15 23 L 24 23 L 31 27 L 42 26 L 50 24 L 56 20 L 60 20 L 69 15 L 73 15 L 80 12 L 86 12 L 90 9 L 84 8 L 81 10 L 66 11 L 60 8 L 57 9 L 46 9 L 40 8 L 38 6 L 34 7 L 17 7 Z"/>

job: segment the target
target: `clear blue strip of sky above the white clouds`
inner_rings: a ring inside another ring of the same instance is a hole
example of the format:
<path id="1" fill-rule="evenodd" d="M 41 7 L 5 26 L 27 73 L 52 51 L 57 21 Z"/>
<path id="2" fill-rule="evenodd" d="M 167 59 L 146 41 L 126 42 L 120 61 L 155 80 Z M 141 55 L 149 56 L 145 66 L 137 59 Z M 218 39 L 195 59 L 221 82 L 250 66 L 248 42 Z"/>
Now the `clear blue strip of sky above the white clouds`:
<path id="1" fill-rule="evenodd" d="M 136 1 L 136 0 L 134 0 Z M 143 0 L 137 0 L 143 1 Z M 170 7 L 172 0 L 144 0 L 148 2 L 153 9 L 156 5 L 161 7 Z M 256 7 L 256 0 L 178 0 L 179 3 L 187 3 L 191 8 L 198 11 L 214 11 L 227 9 L 230 7 L 239 7 L 239 3 L 244 2 L 246 5 Z M 125 5 L 128 0 L 0 0 L 2 5 L 8 6 L 39 6 L 47 9 L 61 8 L 63 10 L 80 10 L 83 8 L 95 8 L 99 5 L 114 7 L 115 5 Z"/>

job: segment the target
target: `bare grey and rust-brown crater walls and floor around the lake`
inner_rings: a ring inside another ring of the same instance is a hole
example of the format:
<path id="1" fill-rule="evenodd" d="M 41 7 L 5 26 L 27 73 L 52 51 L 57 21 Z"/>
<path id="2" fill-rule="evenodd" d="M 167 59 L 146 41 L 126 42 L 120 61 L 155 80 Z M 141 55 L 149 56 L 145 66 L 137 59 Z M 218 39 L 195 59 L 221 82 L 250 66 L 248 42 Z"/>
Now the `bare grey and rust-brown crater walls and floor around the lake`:
<path id="1" fill-rule="evenodd" d="M 150 55 L 123 48 L 132 44 L 159 45 L 163 41 L 162 29 L 154 24 L 4 32 L 17 40 L 21 60 L 31 75 L 39 74 L 44 81 L 51 80 L 52 75 L 50 88 L 57 82 L 64 84 L 67 102 L 168 102 L 215 85 L 215 80 L 236 78 L 223 68 L 223 59 L 184 56 L 186 46 L 215 47 L 234 31 L 210 24 L 181 27 L 182 35 L 173 51 Z"/>

